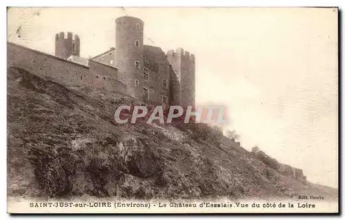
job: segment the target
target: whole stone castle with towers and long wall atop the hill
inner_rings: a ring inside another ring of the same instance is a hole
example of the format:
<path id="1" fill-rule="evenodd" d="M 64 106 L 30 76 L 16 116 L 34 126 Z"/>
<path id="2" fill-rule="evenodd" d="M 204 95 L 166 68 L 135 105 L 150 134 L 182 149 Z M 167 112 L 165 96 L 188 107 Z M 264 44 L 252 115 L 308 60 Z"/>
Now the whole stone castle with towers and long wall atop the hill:
<path id="1" fill-rule="evenodd" d="M 195 56 L 182 48 L 165 53 L 144 45 L 144 22 L 119 17 L 115 48 L 92 58 L 80 57 L 77 34 L 55 36 L 55 56 L 8 43 L 8 67 L 26 68 L 66 86 L 121 92 L 141 101 L 195 105 Z"/>

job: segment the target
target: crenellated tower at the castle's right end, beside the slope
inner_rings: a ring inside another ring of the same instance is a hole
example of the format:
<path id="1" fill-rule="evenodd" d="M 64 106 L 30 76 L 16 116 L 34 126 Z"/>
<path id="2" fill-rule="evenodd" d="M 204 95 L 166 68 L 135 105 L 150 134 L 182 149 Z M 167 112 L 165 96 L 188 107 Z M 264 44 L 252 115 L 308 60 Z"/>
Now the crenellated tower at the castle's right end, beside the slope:
<path id="1" fill-rule="evenodd" d="M 174 102 L 179 102 L 181 106 L 195 105 L 195 56 L 182 48 L 177 48 L 176 51 L 169 50 L 167 53 L 168 61 L 172 69 L 171 78 L 176 78 L 179 85 L 172 85 L 172 94 L 177 94 L 179 97 L 172 96 Z M 174 83 L 174 81 L 172 81 Z"/>

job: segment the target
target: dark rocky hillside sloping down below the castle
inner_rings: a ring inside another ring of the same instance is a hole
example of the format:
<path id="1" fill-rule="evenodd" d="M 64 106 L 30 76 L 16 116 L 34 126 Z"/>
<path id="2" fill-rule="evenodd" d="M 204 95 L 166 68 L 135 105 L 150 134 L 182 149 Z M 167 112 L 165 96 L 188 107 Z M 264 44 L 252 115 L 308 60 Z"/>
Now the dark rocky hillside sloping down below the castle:
<path id="1" fill-rule="evenodd" d="M 66 88 L 8 70 L 8 194 L 19 197 L 268 198 L 337 190 L 268 168 L 221 137 L 146 123 L 118 125 L 121 94 Z"/>

